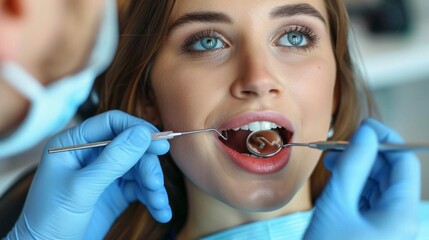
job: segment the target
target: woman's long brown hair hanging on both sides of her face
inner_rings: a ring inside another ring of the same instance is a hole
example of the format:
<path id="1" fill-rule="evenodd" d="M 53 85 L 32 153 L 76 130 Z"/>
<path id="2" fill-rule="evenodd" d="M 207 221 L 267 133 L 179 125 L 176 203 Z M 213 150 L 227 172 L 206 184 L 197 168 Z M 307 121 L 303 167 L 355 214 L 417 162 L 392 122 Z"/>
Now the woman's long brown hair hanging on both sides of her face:
<path id="1" fill-rule="evenodd" d="M 114 62 L 97 82 L 100 93 L 99 112 L 120 109 L 147 119 L 143 106 L 154 104 L 151 93 L 151 62 L 164 42 L 175 0 L 129 0 L 120 9 L 121 39 Z M 337 64 L 335 94 L 337 109 L 333 116 L 332 139 L 348 139 L 363 117 L 373 111 L 370 95 L 355 69 L 348 47 L 348 16 L 342 0 L 325 0 L 329 15 L 332 49 Z M 149 114 L 150 115 L 150 114 Z M 169 158 L 163 156 L 163 158 Z M 156 222 L 144 207 L 134 203 L 116 221 L 107 239 L 164 239 L 180 231 L 186 221 L 187 202 L 183 176 L 174 162 L 161 160 L 173 219 Z M 319 161 L 311 176 L 311 193 L 315 200 L 329 178 Z"/>

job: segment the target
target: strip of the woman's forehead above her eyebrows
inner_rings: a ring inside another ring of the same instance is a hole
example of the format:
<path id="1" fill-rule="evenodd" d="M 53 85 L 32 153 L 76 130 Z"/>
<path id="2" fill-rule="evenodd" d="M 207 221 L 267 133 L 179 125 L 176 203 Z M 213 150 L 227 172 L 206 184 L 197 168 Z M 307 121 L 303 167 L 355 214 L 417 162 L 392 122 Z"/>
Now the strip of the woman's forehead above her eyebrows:
<path id="1" fill-rule="evenodd" d="M 171 20 L 201 11 L 222 12 L 232 18 L 264 18 L 275 8 L 296 4 L 308 4 L 328 19 L 325 0 L 176 0 Z"/>

